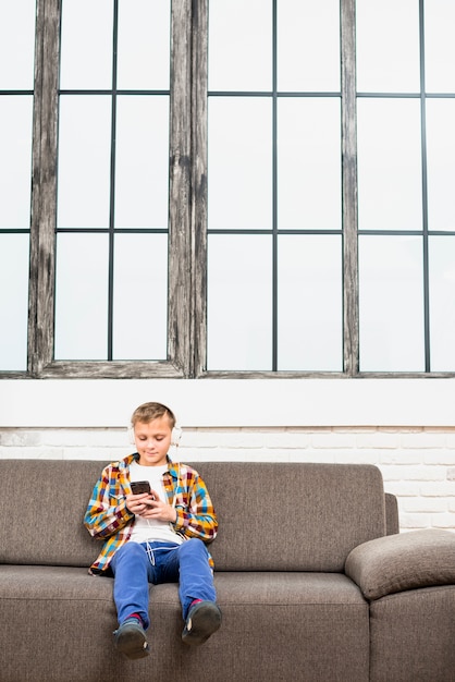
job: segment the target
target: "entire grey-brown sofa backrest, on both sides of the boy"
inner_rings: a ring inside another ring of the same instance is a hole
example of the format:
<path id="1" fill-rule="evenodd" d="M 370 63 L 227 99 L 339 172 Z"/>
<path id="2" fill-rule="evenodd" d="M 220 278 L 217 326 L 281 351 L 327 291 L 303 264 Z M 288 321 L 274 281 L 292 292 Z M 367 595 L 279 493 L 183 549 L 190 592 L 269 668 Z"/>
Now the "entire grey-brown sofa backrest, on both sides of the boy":
<path id="1" fill-rule="evenodd" d="M 82 520 L 106 462 L 0 460 L 0 562 L 88 567 L 101 543 Z M 385 535 L 379 468 L 364 464 L 198 462 L 219 516 L 218 571 L 342 571 Z"/>

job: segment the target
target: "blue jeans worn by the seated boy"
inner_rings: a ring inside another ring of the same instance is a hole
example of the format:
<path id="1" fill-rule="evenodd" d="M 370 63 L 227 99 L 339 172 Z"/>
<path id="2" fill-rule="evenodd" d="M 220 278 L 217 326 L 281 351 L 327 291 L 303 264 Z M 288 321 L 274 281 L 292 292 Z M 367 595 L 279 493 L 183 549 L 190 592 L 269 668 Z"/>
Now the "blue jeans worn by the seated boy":
<path id="1" fill-rule="evenodd" d="M 194 599 L 216 600 L 213 572 L 208 551 L 197 538 L 173 543 L 125 543 L 111 560 L 114 574 L 113 598 L 119 623 L 138 613 L 144 628 L 148 618 L 148 584 L 180 583 L 179 597 L 186 620 Z"/>

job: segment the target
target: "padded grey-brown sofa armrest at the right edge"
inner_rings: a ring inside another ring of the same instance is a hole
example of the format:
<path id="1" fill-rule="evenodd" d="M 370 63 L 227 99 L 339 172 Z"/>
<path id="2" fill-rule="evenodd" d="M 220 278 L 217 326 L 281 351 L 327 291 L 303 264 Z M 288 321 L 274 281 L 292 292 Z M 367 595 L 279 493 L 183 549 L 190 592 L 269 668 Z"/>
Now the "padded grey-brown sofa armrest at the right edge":
<path id="1" fill-rule="evenodd" d="M 349 552 L 345 573 L 369 600 L 455 584 L 455 533 L 426 528 L 362 543 Z"/>

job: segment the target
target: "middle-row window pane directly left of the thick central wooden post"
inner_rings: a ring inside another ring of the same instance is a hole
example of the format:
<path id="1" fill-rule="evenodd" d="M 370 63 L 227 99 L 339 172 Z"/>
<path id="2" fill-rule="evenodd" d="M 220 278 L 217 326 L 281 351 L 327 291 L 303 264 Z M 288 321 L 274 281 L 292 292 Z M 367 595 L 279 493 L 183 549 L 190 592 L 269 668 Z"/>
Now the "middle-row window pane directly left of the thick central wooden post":
<path id="1" fill-rule="evenodd" d="M 115 227 L 167 228 L 169 97 L 118 98 Z"/>

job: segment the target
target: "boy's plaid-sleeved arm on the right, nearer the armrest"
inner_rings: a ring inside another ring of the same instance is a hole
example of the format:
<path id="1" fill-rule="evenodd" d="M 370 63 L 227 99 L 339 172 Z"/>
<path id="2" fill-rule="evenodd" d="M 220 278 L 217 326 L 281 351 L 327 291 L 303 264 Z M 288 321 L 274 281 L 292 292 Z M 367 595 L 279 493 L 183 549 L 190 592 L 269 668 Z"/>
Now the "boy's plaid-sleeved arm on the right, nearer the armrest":
<path id="1" fill-rule="evenodd" d="M 207 486 L 199 475 L 195 476 L 188 490 L 190 498 L 187 507 L 175 507 L 177 517 L 175 531 L 187 537 L 197 537 L 210 543 L 217 536 L 218 521 Z"/>

